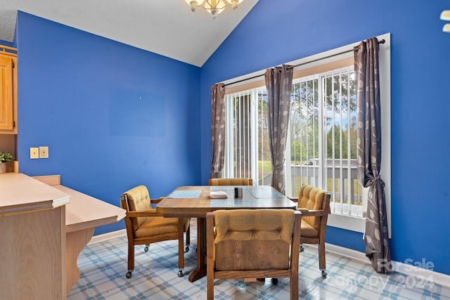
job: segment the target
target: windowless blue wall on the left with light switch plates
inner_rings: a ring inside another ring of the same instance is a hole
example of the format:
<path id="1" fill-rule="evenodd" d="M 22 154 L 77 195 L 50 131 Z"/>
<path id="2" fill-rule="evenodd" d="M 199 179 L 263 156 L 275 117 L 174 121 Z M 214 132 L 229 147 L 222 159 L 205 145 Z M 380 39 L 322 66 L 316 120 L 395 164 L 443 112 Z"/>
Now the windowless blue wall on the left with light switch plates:
<path id="1" fill-rule="evenodd" d="M 22 12 L 16 38 L 21 173 L 117 206 L 135 185 L 200 183 L 199 67 Z M 30 159 L 39 145 L 49 159 Z"/>

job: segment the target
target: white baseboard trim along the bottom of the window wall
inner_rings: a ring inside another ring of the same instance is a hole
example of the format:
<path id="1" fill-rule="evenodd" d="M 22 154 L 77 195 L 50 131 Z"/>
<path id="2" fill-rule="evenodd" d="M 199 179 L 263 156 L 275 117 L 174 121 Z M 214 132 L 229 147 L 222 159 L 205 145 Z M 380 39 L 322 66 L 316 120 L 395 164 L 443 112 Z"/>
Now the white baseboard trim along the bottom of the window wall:
<path id="1" fill-rule="evenodd" d="M 314 247 L 317 249 L 316 245 L 311 244 L 304 244 L 304 247 Z M 333 252 L 335 254 L 348 257 L 349 259 L 360 261 L 361 263 L 370 264 L 370 261 L 366 257 L 366 254 L 363 252 L 359 252 L 353 249 L 348 249 L 345 247 L 340 247 L 335 244 L 328 244 L 328 243 L 326 243 L 325 248 L 327 252 Z M 434 267 L 434 265 L 425 266 L 425 268 L 418 267 L 423 266 L 423 264 L 426 265 L 426 263 L 427 261 L 425 261 L 425 259 L 423 259 L 423 261 L 417 262 L 411 261 L 408 263 L 392 261 L 394 270 L 397 271 L 398 273 L 406 275 L 406 278 L 404 278 L 405 280 L 404 284 L 406 285 L 409 284 L 407 280 L 414 278 L 413 280 L 410 281 L 413 282 L 415 285 L 432 285 L 436 283 L 444 287 L 450 287 L 450 275 L 438 273 L 435 272 L 434 270 L 428 269 Z"/>

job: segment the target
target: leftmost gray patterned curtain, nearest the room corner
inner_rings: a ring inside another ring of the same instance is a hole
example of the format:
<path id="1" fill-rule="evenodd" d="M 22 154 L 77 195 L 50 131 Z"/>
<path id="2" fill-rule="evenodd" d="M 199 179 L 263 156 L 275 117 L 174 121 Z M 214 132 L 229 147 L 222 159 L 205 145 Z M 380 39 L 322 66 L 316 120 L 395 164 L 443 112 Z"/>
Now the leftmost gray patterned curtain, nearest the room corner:
<path id="1" fill-rule="evenodd" d="M 210 178 L 221 178 L 225 160 L 225 86 L 211 86 L 211 171 Z"/>

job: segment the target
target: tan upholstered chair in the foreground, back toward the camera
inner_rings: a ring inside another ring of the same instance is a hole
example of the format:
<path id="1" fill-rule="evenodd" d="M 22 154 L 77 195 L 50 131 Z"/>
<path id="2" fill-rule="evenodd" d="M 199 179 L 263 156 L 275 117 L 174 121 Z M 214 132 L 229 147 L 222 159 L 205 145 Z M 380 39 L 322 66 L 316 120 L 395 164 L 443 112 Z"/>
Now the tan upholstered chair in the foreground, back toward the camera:
<path id="1" fill-rule="evenodd" d="M 289 278 L 290 299 L 299 299 L 301 221 L 294 209 L 208 212 L 207 299 L 214 298 L 214 279 L 231 278 Z"/>

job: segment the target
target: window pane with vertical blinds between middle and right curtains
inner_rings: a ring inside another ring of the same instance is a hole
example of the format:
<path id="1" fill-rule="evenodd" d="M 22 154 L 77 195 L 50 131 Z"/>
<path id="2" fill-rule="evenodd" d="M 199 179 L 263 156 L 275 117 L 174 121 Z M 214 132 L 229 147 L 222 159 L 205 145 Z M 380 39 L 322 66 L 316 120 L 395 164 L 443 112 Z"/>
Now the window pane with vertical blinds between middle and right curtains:
<path id="1" fill-rule="evenodd" d="M 293 81 L 286 153 L 290 195 L 298 195 L 304 184 L 318 186 L 333 195 L 331 211 L 362 216 L 353 66 Z"/>

